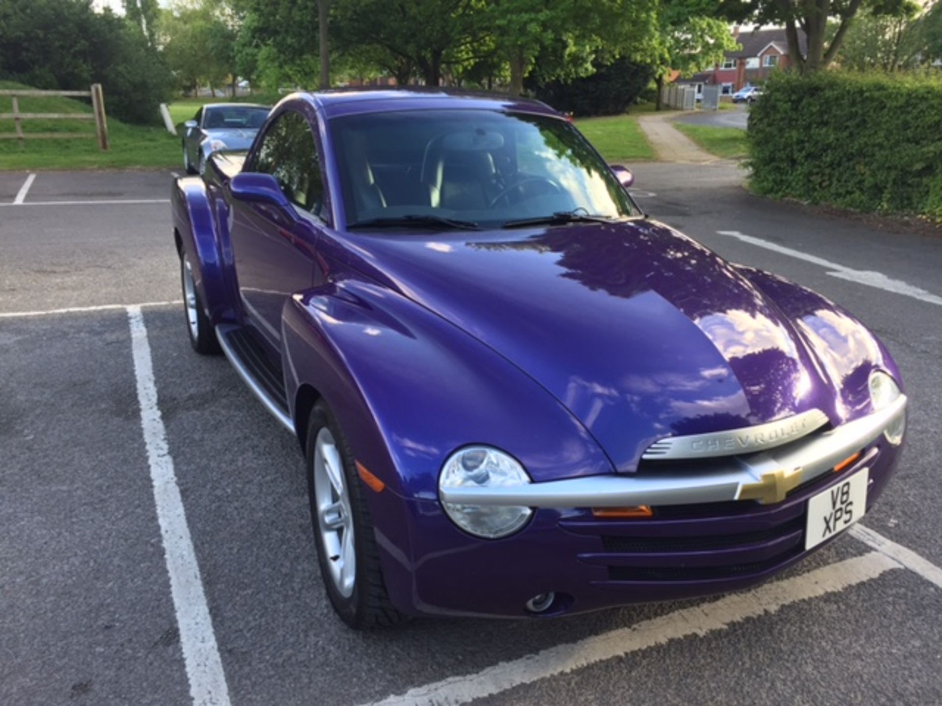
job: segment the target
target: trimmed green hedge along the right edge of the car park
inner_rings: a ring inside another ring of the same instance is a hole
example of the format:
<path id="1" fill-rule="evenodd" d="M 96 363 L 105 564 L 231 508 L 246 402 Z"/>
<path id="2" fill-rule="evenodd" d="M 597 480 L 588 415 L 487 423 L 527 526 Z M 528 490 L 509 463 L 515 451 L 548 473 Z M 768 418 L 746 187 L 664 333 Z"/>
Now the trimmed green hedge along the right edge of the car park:
<path id="1" fill-rule="evenodd" d="M 749 116 L 755 191 L 942 221 L 942 78 L 775 72 Z"/>

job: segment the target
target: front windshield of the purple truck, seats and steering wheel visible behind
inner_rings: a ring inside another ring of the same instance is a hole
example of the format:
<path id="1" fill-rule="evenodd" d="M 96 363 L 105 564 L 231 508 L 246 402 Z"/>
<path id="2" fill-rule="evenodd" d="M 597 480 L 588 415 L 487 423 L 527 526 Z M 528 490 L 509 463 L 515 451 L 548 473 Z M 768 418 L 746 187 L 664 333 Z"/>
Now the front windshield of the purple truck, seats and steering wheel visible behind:
<path id="1" fill-rule="evenodd" d="M 331 120 L 349 227 L 401 219 L 452 230 L 575 213 L 639 216 L 608 165 L 566 120 L 485 110 Z M 565 221 L 557 218 L 554 223 Z"/>

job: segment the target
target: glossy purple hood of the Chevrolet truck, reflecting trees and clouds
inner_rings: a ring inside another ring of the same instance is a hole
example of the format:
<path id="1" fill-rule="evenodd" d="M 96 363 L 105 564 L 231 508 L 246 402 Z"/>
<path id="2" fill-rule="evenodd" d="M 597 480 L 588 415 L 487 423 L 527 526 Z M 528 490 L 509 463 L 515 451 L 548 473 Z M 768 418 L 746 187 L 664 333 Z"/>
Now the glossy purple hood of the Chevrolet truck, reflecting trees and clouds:
<path id="1" fill-rule="evenodd" d="M 636 471 L 667 436 L 814 408 L 835 419 L 833 386 L 785 314 L 662 224 L 383 233 L 356 244 L 391 286 L 555 395 L 619 472 Z"/>

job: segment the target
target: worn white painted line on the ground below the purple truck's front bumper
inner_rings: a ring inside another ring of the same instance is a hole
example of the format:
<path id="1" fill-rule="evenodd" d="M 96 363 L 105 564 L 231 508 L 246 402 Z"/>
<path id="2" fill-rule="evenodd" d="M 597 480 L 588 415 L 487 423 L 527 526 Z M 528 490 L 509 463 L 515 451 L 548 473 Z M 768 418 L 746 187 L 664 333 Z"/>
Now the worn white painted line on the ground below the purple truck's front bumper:
<path id="1" fill-rule="evenodd" d="M 629 627 L 502 662 L 478 674 L 449 677 L 410 689 L 401 696 L 386 698 L 373 706 L 467 703 L 631 652 L 691 635 L 703 636 L 724 630 L 747 618 L 771 615 L 786 605 L 836 593 L 875 579 L 888 570 L 901 568 L 900 562 L 882 552 L 854 556 L 753 591 L 694 605 Z"/>

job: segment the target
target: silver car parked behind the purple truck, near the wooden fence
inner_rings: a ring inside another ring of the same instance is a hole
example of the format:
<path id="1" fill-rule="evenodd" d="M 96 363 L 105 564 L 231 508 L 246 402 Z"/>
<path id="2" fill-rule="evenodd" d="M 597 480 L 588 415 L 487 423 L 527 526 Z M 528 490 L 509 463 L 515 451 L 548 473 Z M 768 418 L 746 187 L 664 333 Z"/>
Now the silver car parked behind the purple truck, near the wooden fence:
<path id="1" fill-rule="evenodd" d="M 213 152 L 252 147 L 270 109 L 268 105 L 249 103 L 203 105 L 193 120 L 184 123 L 183 166 L 187 174 L 202 174 Z"/>

